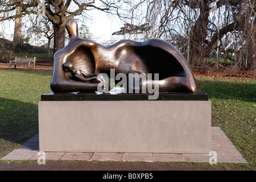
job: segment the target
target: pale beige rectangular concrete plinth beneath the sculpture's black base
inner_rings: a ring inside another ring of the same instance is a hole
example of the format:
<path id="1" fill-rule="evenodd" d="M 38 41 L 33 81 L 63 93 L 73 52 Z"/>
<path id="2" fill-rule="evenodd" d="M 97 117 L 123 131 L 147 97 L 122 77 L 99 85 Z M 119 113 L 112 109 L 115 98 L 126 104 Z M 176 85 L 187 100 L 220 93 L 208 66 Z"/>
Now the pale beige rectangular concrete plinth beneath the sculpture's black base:
<path id="1" fill-rule="evenodd" d="M 209 154 L 211 102 L 39 101 L 39 150 Z"/>

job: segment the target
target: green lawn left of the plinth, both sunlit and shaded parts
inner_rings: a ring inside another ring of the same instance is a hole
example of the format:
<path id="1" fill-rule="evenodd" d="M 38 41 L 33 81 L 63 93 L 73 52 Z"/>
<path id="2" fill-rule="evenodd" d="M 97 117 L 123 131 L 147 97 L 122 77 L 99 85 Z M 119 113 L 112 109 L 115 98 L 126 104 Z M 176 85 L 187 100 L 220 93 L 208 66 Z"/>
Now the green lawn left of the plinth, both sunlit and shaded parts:
<path id="1" fill-rule="evenodd" d="M 51 72 L 0 71 L 0 157 L 38 133 L 38 101 Z"/>

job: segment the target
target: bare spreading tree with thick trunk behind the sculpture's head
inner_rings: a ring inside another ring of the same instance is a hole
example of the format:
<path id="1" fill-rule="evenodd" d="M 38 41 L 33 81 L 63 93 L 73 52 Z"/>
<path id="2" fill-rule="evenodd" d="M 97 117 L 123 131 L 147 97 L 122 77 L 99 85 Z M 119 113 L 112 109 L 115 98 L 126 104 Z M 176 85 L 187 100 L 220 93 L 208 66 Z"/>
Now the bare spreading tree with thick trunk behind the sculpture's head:
<path id="1" fill-rule="evenodd" d="M 119 14 L 120 1 L 98 0 L 0 0 L 1 21 L 17 19 L 25 15 L 44 14 L 54 27 L 54 51 L 65 46 L 65 22 L 85 11 L 97 9 L 106 13 Z M 18 14 L 14 12 L 21 9 Z M 36 20 L 36 19 L 35 19 Z"/>

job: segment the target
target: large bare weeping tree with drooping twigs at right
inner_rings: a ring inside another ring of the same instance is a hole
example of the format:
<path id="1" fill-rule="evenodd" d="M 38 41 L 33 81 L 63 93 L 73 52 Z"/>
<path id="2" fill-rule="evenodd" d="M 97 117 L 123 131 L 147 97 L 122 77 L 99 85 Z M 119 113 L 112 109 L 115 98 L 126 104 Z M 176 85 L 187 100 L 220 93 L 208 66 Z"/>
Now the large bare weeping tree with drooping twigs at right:
<path id="1" fill-rule="evenodd" d="M 145 14 L 141 15 L 143 7 Z M 223 52 L 225 59 L 235 60 L 241 68 L 255 69 L 255 9 L 255 0 L 141 0 L 131 9 L 127 22 L 130 18 L 130 22 L 148 23 L 151 28 L 146 39 L 186 36 L 186 57 L 193 66 L 205 66 L 206 57 L 216 51 L 217 56 Z"/>

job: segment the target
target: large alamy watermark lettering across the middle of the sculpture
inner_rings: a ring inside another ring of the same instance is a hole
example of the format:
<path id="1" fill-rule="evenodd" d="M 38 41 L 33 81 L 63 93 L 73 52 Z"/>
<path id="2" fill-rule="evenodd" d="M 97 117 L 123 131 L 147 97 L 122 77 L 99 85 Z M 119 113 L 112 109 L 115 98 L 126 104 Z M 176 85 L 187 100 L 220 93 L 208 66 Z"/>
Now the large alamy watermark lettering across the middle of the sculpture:
<path id="1" fill-rule="evenodd" d="M 105 80 L 109 80 L 109 76 L 105 73 L 99 74 L 105 77 Z M 151 80 L 153 74 L 147 73 L 147 75 L 141 73 L 129 73 L 128 76 L 124 73 L 118 73 L 115 75 L 115 69 L 110 69 L 110 88 L 123 87 L 126 88 L 122 93 L 149 93 L 149 100 L 157 100 L 159 96 L 159 74 L 154 73 L 154 80 Z M 116 81 L 117 84 L 115 84 Z M 109 84 L 102 81 L 98 84 L 98 92 L 108 93 Z"/>

